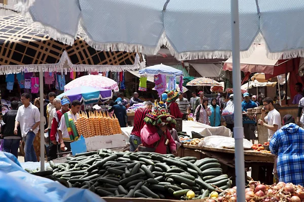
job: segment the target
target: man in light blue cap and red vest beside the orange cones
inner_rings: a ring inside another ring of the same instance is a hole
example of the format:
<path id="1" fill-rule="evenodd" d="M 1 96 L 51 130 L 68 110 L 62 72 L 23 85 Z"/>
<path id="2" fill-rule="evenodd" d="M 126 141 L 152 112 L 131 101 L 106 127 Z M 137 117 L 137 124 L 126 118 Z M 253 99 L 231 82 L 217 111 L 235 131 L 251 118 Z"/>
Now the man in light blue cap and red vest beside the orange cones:
<path id="1" fill-rule="evenodd" d="M 57 129 L 58 129 L 58 125 L 59 125 L 62 115 L 69 111 L 69 104 L 70 104 L 69 100 L 64 98 L 61 100 L 61 106 L 60 106 L 61 108 L 59 108 L 59 110 L 53 109 L 53 111 L 55 111 L 55 113 L 54 113 L 54 117 L 53 117 L 53 121 L 52 121 L 52 128 L 51 128 L 51 134 L 50 134 L 51 142 L 50 142 L 48 161 L 57 159 L 57 153 L 59 153 L 59 151 L 60 151 L 59 144 L 57 144 L 57 142 L 58 142 Z"/>

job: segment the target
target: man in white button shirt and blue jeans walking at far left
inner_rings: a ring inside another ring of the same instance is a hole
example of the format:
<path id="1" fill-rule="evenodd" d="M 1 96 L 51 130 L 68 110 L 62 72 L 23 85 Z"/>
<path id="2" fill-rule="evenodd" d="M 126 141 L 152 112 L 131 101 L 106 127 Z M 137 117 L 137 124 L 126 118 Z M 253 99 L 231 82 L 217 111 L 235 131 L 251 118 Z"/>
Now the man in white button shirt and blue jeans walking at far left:
<path id="1" fill-rule="evenodd" d="M 20 125 L 21 135 L 25 142 L 24 162 L 37 162 L 33 142 L 39 130 L 40 112 L 37 107 L 29 102 L 28 93 L 21 95 L 21 102 L 23 105 L 19 107 L 17 112 L 14 133 L 17 134 L 17 128 Z"/>

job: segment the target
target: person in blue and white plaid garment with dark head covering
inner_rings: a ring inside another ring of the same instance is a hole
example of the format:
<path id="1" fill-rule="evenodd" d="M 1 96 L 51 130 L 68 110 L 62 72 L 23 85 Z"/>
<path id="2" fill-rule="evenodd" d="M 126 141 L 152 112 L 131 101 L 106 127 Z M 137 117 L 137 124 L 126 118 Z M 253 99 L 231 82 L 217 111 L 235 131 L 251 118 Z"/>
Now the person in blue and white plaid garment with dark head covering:
<path id="1" fill-rule="evenodd" d="M 304 129 L 287 114 L 283 127 L 270 141 L 271 153 L 278 156 L 277 171 L 280 182 L 304 185 Z M 275 169 L 276 169 L 275 168 Z"/>

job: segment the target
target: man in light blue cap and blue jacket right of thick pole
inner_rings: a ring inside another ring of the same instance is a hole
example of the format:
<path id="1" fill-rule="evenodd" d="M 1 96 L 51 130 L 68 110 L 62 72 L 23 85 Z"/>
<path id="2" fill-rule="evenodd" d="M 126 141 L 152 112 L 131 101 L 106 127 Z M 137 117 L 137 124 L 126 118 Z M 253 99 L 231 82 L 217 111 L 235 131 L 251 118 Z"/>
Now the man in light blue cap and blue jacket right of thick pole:
<path id="1" fill-rule="evenodd" d="M 249 93 L 248 92 L 245 92 L 243 94 L 243 97 L 244 97 L 244 100 L 242 102 L 242 111 L 244 112 L 247 112 L 247 109 L 251 109 L 251 108 L 255 108 L 257 107 L 255 102 L 253 102 L 250 97 L 249 97 Z M 246 114 L 246 116 L 248 116 Z M 248 116 L 251 120 L 253 119 L 253 116 Z M 255 134 L 254 134 L 254 130 L 255 130 L 255 124 L 253 123 L 244 123 L 243 124 L 243 127 L 244 127 L 244 136 L 246 139 L 248 140 L 253 140 L 255 139 Z"/>

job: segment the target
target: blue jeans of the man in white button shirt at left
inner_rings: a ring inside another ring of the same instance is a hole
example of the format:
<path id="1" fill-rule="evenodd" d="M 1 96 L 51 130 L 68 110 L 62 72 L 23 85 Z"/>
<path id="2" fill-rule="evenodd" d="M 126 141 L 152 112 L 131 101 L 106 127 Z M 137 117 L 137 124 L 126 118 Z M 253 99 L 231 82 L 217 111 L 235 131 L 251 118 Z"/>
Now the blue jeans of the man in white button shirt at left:
<path id="1" fill-rule="evenodd" d="M 24 146 L 24 162 L 37 162 L 36 153 L 34 150 L 34 139 L 36 135 L 34 132 L 28 132 L 25 137 L 23 137 L 23 141 L 25 142 Z"/>

